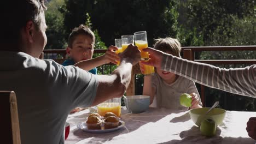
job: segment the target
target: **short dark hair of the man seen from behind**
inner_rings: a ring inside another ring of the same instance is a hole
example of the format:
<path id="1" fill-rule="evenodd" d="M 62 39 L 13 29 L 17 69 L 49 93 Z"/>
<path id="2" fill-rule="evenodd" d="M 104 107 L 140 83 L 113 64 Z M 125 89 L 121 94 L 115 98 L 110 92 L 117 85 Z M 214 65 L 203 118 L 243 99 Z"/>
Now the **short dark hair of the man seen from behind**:
<path id="1" fill-rule="evenodd" d="M 1 5 L 0 17 L 2 21 L 0 25 L 2 31 L 0 33 L 0 44 L 18 45 L 21 39 L 21 29 L 30 20 L 37 30 L 40 28 L 39 14 L 46 9 L 44 0 L 3 1 Z"/>

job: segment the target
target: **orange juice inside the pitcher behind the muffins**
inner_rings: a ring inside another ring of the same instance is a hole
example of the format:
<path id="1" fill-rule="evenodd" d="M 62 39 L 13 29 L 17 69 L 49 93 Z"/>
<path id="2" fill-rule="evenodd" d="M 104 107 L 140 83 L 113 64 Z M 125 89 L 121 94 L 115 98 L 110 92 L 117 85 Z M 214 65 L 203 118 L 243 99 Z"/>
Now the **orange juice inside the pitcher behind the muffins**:
<path id="1" fill-rule="evenodd" d="M 97 105 L 98 114 L 104 116 L 107 112 L 113 112 L 118 117 L 121 116 L 121 104 L 120 103 L 102 103 Z"/>

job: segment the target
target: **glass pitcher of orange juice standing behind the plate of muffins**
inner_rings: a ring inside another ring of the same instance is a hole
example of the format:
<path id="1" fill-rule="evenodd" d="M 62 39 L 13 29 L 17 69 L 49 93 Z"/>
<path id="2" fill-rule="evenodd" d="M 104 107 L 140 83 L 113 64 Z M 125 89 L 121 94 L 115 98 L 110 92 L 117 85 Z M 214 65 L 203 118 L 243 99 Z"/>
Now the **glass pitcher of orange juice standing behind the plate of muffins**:
<path id="1" fill-rule="evenodd" d="M 113 98 L 97 105 L 98 114 L 104 116 L 107 112 L 113 112 L 118 117 L 121 116 L 121 98 Z"/>

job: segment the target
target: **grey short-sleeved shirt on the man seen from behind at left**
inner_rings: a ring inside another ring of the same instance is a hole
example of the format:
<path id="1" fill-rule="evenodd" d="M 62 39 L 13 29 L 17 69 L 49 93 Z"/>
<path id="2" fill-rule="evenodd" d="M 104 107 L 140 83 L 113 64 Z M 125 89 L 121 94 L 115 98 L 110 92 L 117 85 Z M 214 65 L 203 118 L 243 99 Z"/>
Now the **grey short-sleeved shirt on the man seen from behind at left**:
<path id="1" fill-rule="evenodd" d="M 63 143 L 69 111 L 90 106 L 96 95 L 97 80 L 84 74 L 26 53 L 0 53 L 0 90 L 16 92 L 22 143 Z"/>

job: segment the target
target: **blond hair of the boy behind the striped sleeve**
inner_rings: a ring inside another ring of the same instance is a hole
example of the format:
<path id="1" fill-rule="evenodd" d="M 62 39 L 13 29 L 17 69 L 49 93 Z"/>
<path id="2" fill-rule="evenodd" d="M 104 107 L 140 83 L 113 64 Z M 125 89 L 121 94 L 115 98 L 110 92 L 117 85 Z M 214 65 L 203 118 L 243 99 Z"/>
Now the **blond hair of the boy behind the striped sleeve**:
<path id="1" fill-rule="evenodd" d="M 181 57 L 181 43 L 177 39 L 170 37 L 155 39 L 154 49 L 162 52 L 171 52 L 173 56 Z"/>

